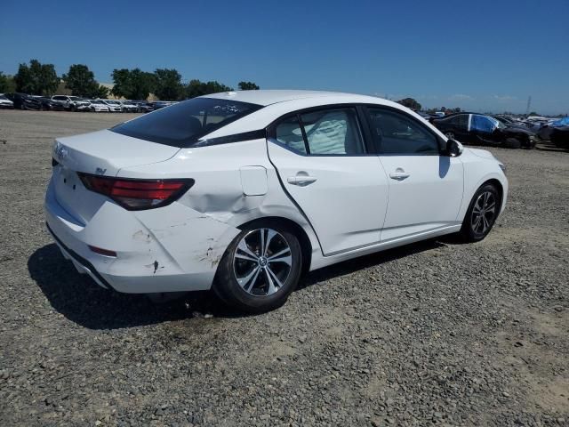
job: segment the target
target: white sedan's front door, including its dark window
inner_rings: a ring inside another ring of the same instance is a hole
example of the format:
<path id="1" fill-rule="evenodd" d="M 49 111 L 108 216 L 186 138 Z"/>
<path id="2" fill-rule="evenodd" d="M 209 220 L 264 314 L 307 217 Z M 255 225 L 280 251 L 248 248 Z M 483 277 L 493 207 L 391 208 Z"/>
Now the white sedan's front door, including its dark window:
<path id="1" fill-rule="evenodd" d="M 368 108 L 389 207 L 381 240 L 405 238 L 458 223 L 463 192 L 460 157 L 443 153 L 435 133 L 397 109 Z"/>

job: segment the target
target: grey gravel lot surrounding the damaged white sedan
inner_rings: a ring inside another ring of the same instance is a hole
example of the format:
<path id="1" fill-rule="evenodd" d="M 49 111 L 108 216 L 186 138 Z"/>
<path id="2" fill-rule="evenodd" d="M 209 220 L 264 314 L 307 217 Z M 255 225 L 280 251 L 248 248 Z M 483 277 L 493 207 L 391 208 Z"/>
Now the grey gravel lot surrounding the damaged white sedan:
<path id="1" fill-rule="evenodd" d="M 569 425 L 569 153 L 492 149 L 506 212 L 319 270 L 280 310 L 155 306 L 44 229 L 55 136 L 130 115 L 0 111 L 0 425 Z"/>

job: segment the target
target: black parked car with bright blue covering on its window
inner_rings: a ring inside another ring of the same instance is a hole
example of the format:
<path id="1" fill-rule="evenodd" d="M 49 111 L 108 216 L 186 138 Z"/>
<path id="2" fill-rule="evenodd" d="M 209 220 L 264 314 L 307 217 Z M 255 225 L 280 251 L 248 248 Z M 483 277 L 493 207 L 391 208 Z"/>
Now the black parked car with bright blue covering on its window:
<path id="1" fill-rule="evenodd" d="M 455 113 L 431 119 L 447 138 L 467 144 L 533 149 L 535 133 L 519 126 L 507 126 L 494 117 L 476 113 Z"/>

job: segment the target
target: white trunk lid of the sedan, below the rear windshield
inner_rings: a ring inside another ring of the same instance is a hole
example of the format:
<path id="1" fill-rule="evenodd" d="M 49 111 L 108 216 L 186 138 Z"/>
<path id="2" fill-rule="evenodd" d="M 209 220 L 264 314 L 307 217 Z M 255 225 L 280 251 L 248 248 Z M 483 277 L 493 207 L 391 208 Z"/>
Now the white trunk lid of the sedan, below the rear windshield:
<path id="1" fill-rule="evenodd" d="M 164 162 L 180 149 L 156 142 L 143 141 L 108 130 L 58 138 L 52 156 L 52 184 L 60 205 L 86 224 L 107 197 L 85 189 L 77 172 L 116 176 L 121 168 Z"/>

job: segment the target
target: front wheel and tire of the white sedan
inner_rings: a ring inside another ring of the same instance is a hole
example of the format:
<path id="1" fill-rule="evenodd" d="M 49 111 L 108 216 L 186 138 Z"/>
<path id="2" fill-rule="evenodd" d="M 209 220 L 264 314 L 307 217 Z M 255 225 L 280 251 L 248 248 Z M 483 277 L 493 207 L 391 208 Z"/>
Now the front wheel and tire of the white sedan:
<path id="1" fill-rule="evenodd" d="M 467 242 L 479 242 L 492 230 L 501 208 L 501 195 L 496 186 L 485 184 L 470 201 L 461 227 L 461 236 Z"/>

